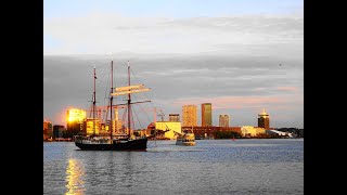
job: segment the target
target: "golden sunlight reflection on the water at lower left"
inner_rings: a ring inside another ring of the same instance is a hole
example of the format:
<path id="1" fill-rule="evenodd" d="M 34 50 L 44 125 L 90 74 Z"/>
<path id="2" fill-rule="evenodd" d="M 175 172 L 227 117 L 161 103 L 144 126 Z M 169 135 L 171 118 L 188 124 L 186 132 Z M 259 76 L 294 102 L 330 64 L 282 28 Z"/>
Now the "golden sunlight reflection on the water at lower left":
<path id="1" fill-rule="evenodd" d="M 66 169 L 66 195 L 82 195 L 85 194 L 83 185 L 85 170 L 80 161 L 76 159 L 69 159 Z"/>

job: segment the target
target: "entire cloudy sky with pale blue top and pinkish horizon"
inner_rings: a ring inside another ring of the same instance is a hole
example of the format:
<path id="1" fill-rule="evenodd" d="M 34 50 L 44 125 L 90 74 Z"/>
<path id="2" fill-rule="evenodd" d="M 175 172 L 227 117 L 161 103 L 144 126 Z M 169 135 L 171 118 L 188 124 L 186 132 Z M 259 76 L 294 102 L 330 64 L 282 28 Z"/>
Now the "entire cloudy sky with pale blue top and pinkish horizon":
<path id="1" fill-rule="evenodd" d="M 138 98 L 152 101 L 136 110 L 144 127 L 153 106 L 168 119 L 195 104 L 201 123 L 201 104 L 211 103 L 215 126 L 219 114 L 257 126 L 265 108 L 271 127 L 304 128 L 303 0 L 43 3 L 43 117 L 53 125 L 66 125 L 68 107 L 90 108 L 94 66 L 106 104 L 113 60 L 116 86 L 129 61 L 133 82 L 152 89 Z"/>

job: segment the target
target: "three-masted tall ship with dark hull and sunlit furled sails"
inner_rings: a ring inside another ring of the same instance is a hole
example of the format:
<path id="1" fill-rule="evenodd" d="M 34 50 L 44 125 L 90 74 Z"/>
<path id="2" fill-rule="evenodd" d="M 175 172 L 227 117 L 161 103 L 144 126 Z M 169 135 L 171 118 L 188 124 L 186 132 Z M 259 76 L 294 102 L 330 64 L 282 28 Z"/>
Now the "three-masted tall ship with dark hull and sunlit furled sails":
<path id="1" fill-rule="evenodd" d="M 110 90 L 110 105 L 107 108 L 110 108 L 110 127 L 108 131 L 110 134 L 98 134 L 95 133 L 97 129 L 97 118 L 95 118 L 95 112 L 97 112 L 97 95 L 95 95 L 95 79 L 97 79 L 97 73 L 94 67 L 94 74 L 93 74 L 93 83 L 94 83 L 94 90 L 93 90 L 93 98 L 92 98 L 92 134 L 79 134 L 75 135 L 75 145 L 83 151 L 146 151 L 147 147 L 147 138 L 144 136 L 136 136 L 132 133 L 131 128 L 131 106 L 133 104 L 138 103 L 145 103 L 151 101 L 142 101 L 142 102 L 132 102 L 131 101 L 131 94 L 132 93 L 140 93 L 150 91 L 149 88 L 145 88 L 144 84 L 130 84 L 130 64 L 128 61 L 128 86 L 125 87 L 113 87 L 113 61 L 111 62 L 111 90 Z M 113 98 L 118 95 L 125 95 L 126 96 L 126 103 L 125 104 L 113 104 Z M 126 118 L 125 121 L 126 126 L 124 127 L 123 133 L 113 133 L 113 108 L 123 106 L 123 108 L 126 109 Z"/>

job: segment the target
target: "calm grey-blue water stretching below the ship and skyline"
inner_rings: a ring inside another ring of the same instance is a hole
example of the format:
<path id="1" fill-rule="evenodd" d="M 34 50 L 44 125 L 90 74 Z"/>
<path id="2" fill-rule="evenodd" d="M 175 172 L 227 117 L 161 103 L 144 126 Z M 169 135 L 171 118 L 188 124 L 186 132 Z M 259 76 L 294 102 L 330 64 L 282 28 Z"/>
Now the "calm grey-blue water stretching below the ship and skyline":
<path id="1" fill-rule="evenodd" d="M 43 142 L 44 194 L 304 194 L 304 139 L 149 141 L 146 152 Z"/>

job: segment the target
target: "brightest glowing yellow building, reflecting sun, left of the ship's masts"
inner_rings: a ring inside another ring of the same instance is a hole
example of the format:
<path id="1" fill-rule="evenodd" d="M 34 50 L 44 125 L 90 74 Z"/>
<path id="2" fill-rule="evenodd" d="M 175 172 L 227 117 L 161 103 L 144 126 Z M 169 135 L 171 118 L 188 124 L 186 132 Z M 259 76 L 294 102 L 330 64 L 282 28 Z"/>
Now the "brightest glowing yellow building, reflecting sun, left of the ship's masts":
<path id="1" fill-rule="evenodd" d="M 86 120 L 86 110 L 70 108 L 67 110 L 67 126 L 66 130 L 69 132 L 69 136 L 77 134 L 80 131 L 83 131 L 85 120 Z"/>

